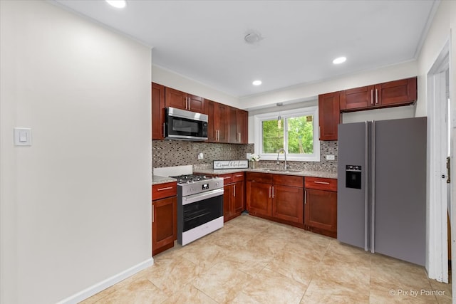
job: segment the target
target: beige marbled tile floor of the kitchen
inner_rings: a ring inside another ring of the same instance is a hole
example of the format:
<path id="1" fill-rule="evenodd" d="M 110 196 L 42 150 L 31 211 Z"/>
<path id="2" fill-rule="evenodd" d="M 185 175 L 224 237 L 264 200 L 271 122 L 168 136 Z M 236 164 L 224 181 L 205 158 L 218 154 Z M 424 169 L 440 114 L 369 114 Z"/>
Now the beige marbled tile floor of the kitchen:
<path id="1" fill-rule="evenodd" d="M 81 303 L 451 303 L 423 267 L 248 214 L 154 260 Z"/>

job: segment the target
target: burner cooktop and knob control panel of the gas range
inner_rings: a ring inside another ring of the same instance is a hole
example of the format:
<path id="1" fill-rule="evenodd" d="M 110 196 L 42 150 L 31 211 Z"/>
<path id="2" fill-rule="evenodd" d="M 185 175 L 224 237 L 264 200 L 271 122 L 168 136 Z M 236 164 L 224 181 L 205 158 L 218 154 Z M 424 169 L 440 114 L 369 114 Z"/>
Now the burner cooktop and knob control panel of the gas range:
<path id="1" fill-rule="evenodd" d="M 177 195 L 188 196 L 223 189 L 221 177 L 210 177 L 203 174 L 184 174 L 172 177 L 177 179 Z"/>

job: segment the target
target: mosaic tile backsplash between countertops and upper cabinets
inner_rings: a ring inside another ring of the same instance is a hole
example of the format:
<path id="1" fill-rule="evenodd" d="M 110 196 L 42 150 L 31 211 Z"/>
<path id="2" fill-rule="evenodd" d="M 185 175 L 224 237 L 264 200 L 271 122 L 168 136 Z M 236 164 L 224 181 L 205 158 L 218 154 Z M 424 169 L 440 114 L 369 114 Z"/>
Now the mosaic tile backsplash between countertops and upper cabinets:
<path id="1" fill-rule="evenodd" d="M 197 169 L 212 169 L 214 160 L 246 159 L 254 152 L 254 144 L 214 144 L 207 142 L 185 142 L 180 140 L 152 140 L 152 167 L 172 167 L 192 164 Z M 203 159 L 198 159 L 198 154 Z M 335 160 L 326 160 L 326 155 Z M 280 160 L 283 164 L 283 155 Z M 320 142 L 320 162 L 287 162 L 292 169 L 337 172 L 337 141 Z M 260 160 L 259 167 L 278 167 L 275 161 Z"/>

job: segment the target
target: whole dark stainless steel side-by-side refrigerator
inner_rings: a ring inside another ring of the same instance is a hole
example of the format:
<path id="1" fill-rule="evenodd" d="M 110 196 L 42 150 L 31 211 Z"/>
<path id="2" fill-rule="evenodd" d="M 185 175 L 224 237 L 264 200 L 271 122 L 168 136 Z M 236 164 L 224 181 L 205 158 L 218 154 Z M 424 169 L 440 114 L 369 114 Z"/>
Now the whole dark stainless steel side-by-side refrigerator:
<path id="1" fill-rule="evenodd" d="M 426 135 L 426 117 L 338 125 L 338 241 L 425 265 Z"/>

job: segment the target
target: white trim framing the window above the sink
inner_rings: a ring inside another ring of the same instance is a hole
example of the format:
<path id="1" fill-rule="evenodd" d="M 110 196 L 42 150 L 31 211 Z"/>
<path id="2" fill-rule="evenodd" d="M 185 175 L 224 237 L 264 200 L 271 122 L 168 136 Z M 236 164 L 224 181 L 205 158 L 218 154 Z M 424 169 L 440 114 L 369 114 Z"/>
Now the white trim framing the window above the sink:
<path id="1" fill-rule="evenodd" d="M 319 162 L 320 161 L 320 140 L 318 134 L 318 106 L 311 106 L 306 108 L 300 108 L 295 110 L 286 110 L 286 111 L 277 111 L 270 112 L 265 114 L 254 115 L 254 144 L 255 144 L 255 154 L 259 155 L 262 160 L 276 160 L 276 153 L 261 153 L 262 147 L 262 127 L 261 121 L 263 120 L 272 120 L 277 119 L 279 115 L 283 118 L 296 117 L 296 116 L 305 116 L 313 115 L 314 116 L 314 153 L 313 154 L 302 154 L 297 156 L 296 154 L 288 154 L 286 151 L 286 160 L 301 161 L 301 162 Z M 284 123 L 284 127 L 286 124 Z M 279 156 L 280 160 L 284 159 L 283 155 Z"/>

